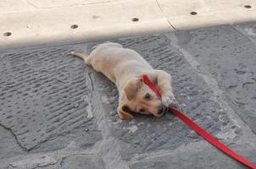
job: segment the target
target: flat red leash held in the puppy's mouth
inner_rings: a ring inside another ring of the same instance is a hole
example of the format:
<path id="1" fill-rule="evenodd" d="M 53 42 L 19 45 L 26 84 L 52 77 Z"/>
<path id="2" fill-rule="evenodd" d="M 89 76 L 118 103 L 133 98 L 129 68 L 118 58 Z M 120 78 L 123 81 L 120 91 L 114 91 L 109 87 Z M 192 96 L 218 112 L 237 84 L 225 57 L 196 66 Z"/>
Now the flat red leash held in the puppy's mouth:
<path id="1" fill-rule="evenodd" d="M 148 87 L 153 90 L 154 93 L 156 93 L 159 96 L 162 96 L 159 92 L 158 88 L 153 85 L 153 83 L 150 81 L 150 79 L 147 78 L 146 74 L 142 74 L 142 79 Z M 175 114 L 176 117 L 179 117 L 186 125 L 188 125 L 192 130 L 194 130 L 198 135 L 201 135 L 203 139 L 206 139 L 210 144 L 213 144 L 217 149 L 224 152 L 226 155 L 230 155 L 233 159 L 240 161 L 245 166 L 248 166 L 249 168 L 256 169 L 256 166 L 253 165 L 250 161 L 243 158 L 241 155 L 238 155 L 235 151 L 229 149 L 225 144 L 222 144 L 218 139 L 215 139 L 214 136 L 203 130 L 200 126 L 198 126 L 197 123 L 194 123 L 189 117 L 186 117 L 185 114 L 178 111 L 175 108 L 170 107 L 170 111 Z"/>

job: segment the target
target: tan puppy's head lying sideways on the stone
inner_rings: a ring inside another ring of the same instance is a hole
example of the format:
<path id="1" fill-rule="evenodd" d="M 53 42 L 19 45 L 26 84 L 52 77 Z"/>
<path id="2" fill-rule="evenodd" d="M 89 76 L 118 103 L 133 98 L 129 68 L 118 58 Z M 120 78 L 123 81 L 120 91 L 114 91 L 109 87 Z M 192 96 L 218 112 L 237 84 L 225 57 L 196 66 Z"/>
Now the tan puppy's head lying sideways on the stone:
<path id="1" fill-rule="evenodd" d="M 156 95 L 141 78 L 129 79 L 122 91 L 122 101 L 118 112 L 123 118 L 132 118 L 130 112 L 161 117 L 165 108 L 158 95 Z"/>

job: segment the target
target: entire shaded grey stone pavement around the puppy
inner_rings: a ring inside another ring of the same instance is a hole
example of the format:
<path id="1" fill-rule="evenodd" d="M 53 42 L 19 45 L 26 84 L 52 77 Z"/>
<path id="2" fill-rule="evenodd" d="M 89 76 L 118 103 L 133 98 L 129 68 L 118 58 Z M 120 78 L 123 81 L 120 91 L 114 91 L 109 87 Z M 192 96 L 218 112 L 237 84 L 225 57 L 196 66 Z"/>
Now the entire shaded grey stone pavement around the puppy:
<path id="1" fill-rule="evenodd" d="M 116 41 L 173 77 L 181 109 L 256 164 L 256 24 Z M 245 168 L 179 119 L 120 120 L 118 92 L 71 51 L 93 44 L 0 52 L 0 168 Z"/>

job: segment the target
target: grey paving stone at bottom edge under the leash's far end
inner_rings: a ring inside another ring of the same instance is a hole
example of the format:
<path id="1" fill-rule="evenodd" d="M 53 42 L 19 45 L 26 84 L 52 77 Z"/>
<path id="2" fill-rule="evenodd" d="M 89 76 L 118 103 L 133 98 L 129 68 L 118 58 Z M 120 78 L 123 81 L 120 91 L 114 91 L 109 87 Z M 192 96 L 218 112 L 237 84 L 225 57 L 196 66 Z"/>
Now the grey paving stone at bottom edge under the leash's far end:
<path id="1" fill-rule="evenodd" d="M 200 146 L 200 145 L 199 145 Z M 234 147 L 233 147 L 234 148 Z M 146 160 L 137 161 L 130 165 L 130 169 L 246 169 L 237 161 L 232 160 L 229 156 L 220 153 L 212 147 L 202 148 L 192 147 L 192 150 L 178 150 L 170 155 L 158 155 L 156 157 L 149 157 Z M 253 150 L 246 148 L 246 146 L 237 146 L 239 153 L 246 156 L 251 161 L 255 162 Z M 244 154 L 246 152 L 246 154 Z"/>

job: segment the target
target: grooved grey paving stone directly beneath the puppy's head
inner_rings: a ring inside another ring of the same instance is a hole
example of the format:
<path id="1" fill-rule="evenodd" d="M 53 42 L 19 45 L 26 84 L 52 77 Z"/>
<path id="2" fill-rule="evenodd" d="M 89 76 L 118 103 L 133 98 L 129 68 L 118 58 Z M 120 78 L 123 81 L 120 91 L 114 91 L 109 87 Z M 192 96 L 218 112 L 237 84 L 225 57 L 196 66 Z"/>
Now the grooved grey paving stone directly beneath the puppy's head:
<path id="1" fill-rule="evenodd" d="M 163 69 L 170 73 L 173 77 L 175 95 L 181 108 L 203 128 L 216 135 L 221 132 L 221 128 L 227 125 L 220 120 L 220 117 L 225 119 L 229 117 L 221 109 L 219 103 L 211 99 L 212 91 L 186 62 L 181 52 L 174 46 L 170 46 L 168 37 L 147 35 L 125 38 L 116 42 L 142 54 L 142 57 L 153 65 L 153 68 Z M 120 120 L 114 113 L 118 100 L 118 91 L 114 84 L 102 74 L 96 74 L 96 84 L 107 110 L 105 113 L 111 125 L 112 135 L 126 144 L 121 150 L 123 160 L 129 161 L 135 154 L 155 150 L 174 150 L 182 144 L 198 140 L 197 134 L 170 114 L 161 118 L 136 116 L 136 122 Z M 233 128 L 230 128 L 231 130 L 237 129 L 232 122 L 229 125 Z"/>

